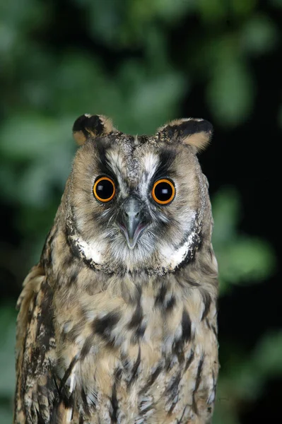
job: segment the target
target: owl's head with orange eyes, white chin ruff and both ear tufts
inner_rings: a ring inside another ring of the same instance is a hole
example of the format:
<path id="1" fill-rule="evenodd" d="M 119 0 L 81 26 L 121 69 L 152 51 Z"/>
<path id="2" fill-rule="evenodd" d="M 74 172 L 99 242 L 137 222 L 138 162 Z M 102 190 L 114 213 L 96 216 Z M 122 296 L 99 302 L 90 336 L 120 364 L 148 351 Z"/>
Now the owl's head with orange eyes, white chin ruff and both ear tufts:
<path id="1" fill-rule="evenodd" d="M 84 114 L 73 131 L 81 147 L 66 187 L 66 229 L 89 266 L 164 274 L 210 244 L 208 187 L 196 157 L 211 137 L 209 122 L 179 119 L 154 136 L 131 136 Z"/>

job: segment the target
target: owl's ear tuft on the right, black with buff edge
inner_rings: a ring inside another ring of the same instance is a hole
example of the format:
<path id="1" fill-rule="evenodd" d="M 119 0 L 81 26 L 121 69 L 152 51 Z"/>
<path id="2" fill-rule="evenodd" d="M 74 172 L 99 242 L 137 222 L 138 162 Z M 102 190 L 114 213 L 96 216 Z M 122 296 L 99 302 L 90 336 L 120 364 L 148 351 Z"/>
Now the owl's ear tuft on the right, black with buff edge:
<path id="1" fill-rule="evenodd" d="M 161 141 L 187 144 L 192 146 L 196 153 L 206 148 L 212 134 L 211 123 L 199 118 L 175 119 L 158 130 Z"/>

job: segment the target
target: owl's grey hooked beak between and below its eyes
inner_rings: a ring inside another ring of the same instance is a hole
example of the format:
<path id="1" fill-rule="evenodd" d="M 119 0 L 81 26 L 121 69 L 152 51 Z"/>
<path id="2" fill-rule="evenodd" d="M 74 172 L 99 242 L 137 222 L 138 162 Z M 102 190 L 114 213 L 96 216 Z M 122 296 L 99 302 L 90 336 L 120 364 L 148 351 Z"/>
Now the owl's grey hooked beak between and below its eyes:
<path id="1" fill-rule="evenodd" d="M 129 249 L 134 249 L 147 226 L 148 219 L 141 201 L 135 196 L 129 196 L 122 205 L 122 217 L 119 223 Z"/>

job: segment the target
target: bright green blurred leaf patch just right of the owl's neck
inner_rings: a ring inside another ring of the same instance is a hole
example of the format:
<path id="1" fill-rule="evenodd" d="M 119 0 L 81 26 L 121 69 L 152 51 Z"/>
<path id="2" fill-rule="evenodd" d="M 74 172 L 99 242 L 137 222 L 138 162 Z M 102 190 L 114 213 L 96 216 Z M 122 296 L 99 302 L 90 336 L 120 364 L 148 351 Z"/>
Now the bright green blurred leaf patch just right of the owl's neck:
<path id="1" fill-rule="evenodd" d="M 213 247 L 218 260 L 220 293 L 230 284 L 258 283 L 271 275 L 276 266 L 271 246 L 263 240 L 237 232 L 240 198 L 235 189 L 221 189 L 212 199 Z"/>

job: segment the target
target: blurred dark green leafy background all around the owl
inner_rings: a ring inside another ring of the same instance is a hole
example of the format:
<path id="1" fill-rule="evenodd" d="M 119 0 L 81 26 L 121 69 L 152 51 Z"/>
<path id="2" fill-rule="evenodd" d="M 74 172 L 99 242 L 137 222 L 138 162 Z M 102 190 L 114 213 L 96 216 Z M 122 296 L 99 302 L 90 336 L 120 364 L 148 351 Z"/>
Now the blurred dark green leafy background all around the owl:
<path id="1" fill-rule="evenodd" d="M 0 6 L 0 422 L 11 423 L 14 306 L 39 259 L 80 114 L 152 134 L 213 122 L 221 278 L 216 424 L 281 419 L 282 1 L 10 0 Z"/>

